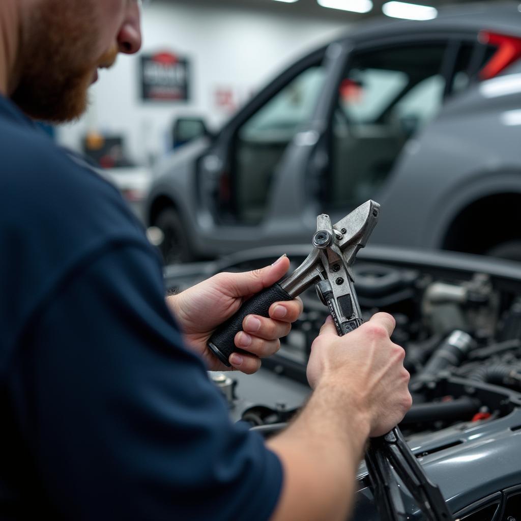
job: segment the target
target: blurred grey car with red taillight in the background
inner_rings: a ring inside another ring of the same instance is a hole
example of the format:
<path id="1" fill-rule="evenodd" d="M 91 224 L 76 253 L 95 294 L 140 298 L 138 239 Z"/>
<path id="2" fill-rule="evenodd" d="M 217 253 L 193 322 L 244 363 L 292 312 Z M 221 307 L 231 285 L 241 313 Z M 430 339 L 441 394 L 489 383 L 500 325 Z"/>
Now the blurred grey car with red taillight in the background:
<path id="1" fill-rule="evenodd" d="M 517 3 L 360 24 L 158 165 L 146 203 L 168 263 L 308 242 L 368 199 L 371 244 L 521 259 Z"/>

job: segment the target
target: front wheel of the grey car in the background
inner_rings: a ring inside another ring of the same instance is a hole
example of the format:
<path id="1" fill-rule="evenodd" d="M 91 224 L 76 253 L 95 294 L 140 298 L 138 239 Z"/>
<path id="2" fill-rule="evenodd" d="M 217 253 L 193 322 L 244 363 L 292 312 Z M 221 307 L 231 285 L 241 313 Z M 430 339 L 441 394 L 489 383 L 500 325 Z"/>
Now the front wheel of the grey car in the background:
<path id="1" fill-rule="evenodd" d="M 187 232 L 176 210 L 172 208 L 162 210 L 157 216 L 155 226 L 163 232 L 159 251 L 163 255 L 165 264 L 179 264 L 193 260 Z"/>

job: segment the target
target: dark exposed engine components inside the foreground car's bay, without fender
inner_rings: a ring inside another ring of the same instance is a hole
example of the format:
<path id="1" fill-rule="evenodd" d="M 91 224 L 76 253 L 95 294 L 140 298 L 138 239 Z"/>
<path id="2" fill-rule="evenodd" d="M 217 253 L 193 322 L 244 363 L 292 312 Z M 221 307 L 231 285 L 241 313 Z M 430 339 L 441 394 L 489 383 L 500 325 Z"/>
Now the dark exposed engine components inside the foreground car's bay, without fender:
<path id="1" fill-rule="evenodd" d="M 449 268 L 443 273 L 439 267 L 408 264 L 361 259 L 353 269 L 364 319 L 378 311 L 393 315 L 392 340 L 406 351 L 404 365 L 411 374 L 414 405 L 402 431 L 406 436 L 438 432 L 506 414 L 501 400 L 495 399 L 495 387 L 521 392 L 521 280 L 509 283 L 508 277 L 503 280 L 485 271 Z M 311 289 L 302 300 L 301 318 L 282 339 L 279 353 L 263 366 L 306 383 L 309 350 L 328 311 Z M 487 393 L 479 399 L 464 390 L 448 393 L 441 382 L 451 378 L 490 386 L 491 399 Z M 244 411 L 241 419 L 258 427 L 283 423 L 290 416 L 286 409 L 259 403 Z"/>

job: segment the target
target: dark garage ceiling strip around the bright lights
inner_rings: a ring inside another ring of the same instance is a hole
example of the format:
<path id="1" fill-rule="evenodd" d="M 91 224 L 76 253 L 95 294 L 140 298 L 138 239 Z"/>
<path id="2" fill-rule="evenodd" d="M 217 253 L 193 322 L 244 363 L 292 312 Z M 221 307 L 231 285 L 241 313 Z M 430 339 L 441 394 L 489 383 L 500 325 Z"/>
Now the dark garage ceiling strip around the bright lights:
<path id="1" fill-rule="evenodd" d="M 237 8 L 241 11 L 264 11 L 271 14 L 279 15 L 294 15 L 297 17 L 313 17 L 321 20 L 345 20 L 346 22 L 355 22 L 357 20 L 367 19 L 368 17 L 380 16 L 382 14 L 381 6 L 387 0 L 373 0 L 373 10 L 365 15 L 357 13 L 349 13 L 349 11 L 341 11 L 338 9 L 327 9 L 320 7 L 316 0 L 297 0 L 292 4 L 284 2 L 275 2 L 274 0 L 169 0 L 172 4 L 190 4 L 191 6 L 201 7 L 224 7 Z M 429 5 L 433 7 L 440 7 L 443 5 L 465 4 L 473 0 L 404 0 L 411 3 L 418 3 L 422 5 Z M 487 3 L 491 3 L 490 1 Z"/>

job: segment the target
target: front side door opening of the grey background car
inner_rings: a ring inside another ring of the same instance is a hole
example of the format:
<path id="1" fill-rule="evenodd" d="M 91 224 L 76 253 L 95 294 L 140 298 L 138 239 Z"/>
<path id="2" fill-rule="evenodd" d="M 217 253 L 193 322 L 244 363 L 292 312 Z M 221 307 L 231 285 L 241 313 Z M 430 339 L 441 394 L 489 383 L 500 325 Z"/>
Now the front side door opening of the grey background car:
<path id="1" fill-rule="evenodd" d="M 239 128 L 232 168 L 232 198 L 239 221 L 262 220 L 277 165 L 293 136 L 311 118 L 324 76 L 319 64 L 305 69 Z"/>

